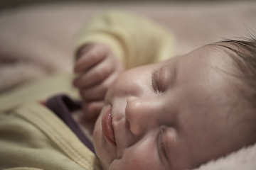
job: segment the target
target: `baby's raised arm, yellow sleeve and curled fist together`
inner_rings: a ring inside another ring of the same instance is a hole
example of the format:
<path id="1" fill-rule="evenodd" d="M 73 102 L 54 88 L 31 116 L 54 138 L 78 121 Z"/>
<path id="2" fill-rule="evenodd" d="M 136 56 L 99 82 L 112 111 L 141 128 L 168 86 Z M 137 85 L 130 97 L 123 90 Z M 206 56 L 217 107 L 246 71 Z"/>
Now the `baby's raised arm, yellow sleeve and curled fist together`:
<path id="1" fill-rule="evenodd" d="M 130 69 L 166 60 L 174 55 L 174 38 L 145 18 L 111 11 L 97 16 L 82 30 L 76 47 L 75 72 L 83 74 L 75 80 L 75 85 L 85 98 L 84 110 L 89 112 L 89 117 L 95 117 L 92 115 L 99 113 L 105 92 L 123 66 Z M 102 60 L 93 64 L 105 57 L 108 62 Z M 92 70 L 95 70 L 94 74 Z M 115 76 L 107 76 L 109 70 L 116 70 Z M 104 78 L 109 81 L 105 83 Z M 90 91 L 90 88 L 95 90 Z"/>

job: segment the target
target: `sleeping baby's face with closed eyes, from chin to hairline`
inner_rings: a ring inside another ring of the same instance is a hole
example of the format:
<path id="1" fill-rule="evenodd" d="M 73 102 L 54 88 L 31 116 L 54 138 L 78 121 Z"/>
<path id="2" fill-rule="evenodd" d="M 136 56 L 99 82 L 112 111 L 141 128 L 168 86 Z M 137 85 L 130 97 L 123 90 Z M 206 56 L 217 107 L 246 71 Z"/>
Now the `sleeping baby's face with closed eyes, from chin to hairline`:
<path id="1" fill-rule="evenodd" d="M 102 168 L 191 169 L 246 145 L 233 115 L 234 80 L 223 72 L 234 71 L 227 56 L 201 47 L 124 72 L 95 125 Z"/>

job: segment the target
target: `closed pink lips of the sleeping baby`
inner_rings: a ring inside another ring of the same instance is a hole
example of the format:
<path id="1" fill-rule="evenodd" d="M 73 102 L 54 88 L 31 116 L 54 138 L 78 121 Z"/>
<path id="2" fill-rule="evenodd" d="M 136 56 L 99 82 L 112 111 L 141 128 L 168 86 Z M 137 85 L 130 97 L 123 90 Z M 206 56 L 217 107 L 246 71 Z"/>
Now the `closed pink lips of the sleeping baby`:
<path id="1" fill-rule="evenodd" d="M 102 132 L 105 140 L 110 145 L 116 146 L 116 142 L 114 140 L 114 130 L 112 127 L 112 108 L 108 106 L 105 113 L 102 115 Z"/>

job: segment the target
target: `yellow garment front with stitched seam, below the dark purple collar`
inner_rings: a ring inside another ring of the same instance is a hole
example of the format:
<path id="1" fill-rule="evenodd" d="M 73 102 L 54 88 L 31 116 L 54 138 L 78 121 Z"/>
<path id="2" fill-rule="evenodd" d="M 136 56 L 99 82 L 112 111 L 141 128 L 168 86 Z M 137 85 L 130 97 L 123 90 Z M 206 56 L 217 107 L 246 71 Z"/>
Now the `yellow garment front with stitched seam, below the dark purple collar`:
<path id="1" fill-rule="evenodd" d="M 0 111 L 0 169 L 101 170 L 100 162 L 39 102 Z"/>

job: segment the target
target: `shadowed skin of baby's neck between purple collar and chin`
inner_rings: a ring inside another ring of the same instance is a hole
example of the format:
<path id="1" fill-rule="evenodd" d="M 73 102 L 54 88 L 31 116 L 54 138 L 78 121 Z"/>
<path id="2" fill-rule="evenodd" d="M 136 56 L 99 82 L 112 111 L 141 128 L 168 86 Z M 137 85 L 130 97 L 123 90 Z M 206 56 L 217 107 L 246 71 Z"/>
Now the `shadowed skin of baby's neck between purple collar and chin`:
<path id="1" fill-rule="evenodd" d="M 92 132 L 94 129 L 95 122 L 89 122 L 85 120 L 85 113 L 82 110 L 74 111 L 71 115 L 72 118 L 75 120 L 75 123 L 78 124 L 79 128 L 82 132 L 86 135 L 88 140 L 92 142 Z"/>

